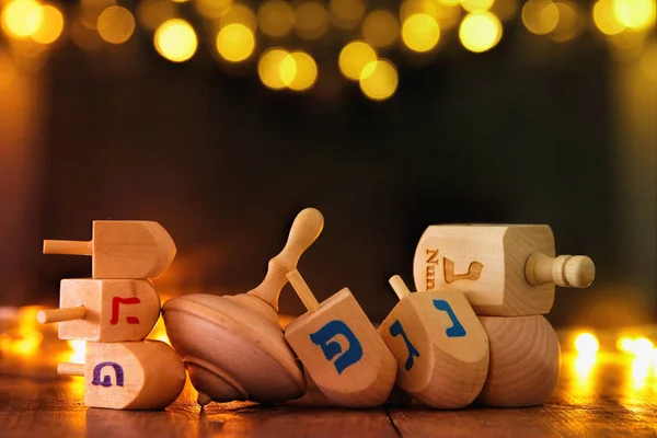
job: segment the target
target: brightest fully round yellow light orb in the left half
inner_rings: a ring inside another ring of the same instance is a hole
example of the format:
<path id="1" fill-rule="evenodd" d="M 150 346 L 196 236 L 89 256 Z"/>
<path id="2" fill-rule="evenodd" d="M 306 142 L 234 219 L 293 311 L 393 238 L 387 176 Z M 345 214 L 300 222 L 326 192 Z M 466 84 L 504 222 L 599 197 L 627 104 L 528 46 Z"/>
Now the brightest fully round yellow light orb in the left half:
<path id="1" fill-rule="evenodd" d="M 164 22 L 155 31 L 153 39 L 158 53 L 173 62 L 192 58 L 198 47 L 196 32 L 189 23 L 180 19 Z"/>

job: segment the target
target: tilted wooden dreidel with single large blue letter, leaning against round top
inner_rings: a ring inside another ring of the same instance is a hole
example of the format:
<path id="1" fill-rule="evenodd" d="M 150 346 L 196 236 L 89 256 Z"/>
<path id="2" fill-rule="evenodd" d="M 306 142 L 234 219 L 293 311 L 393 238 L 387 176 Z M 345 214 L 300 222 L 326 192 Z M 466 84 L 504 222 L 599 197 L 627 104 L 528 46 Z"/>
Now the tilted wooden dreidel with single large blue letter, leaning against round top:
<path id="1" fill-rule="evenodd" d="M 298 270 L 287 276 L 308 313 L 285 328 L 285 338 L 319 389 L 342 406 L 382 404 L 396 361 L 349 289 L 319 303 Z"/>

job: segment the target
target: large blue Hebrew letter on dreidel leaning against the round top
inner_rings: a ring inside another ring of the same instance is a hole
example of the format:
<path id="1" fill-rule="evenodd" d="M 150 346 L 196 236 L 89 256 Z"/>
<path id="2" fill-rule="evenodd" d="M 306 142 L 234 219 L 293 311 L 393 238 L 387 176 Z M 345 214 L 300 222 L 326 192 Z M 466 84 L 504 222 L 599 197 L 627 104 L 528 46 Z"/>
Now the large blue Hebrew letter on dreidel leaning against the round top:
<path id="1" fill-rule="evenodd" d="M 337 335 L 343 335 L 349 343 L 349 348 L 347 348 L 345 353 L 342 351 L 342 347 L 337 342 L 331 341 Z M 360 345 L 360 342 L 358 342 L 356 335 L 351 332 L 351 328 L 339 320 L 333 320 L 315 333 L 311 333 L 310 341 L 322 348 L 326 360 L 331 360 L 336 355 L 343 353 L 333 362 L 338 374 L 342 374 L 347 367 L 356 364 L 362 357 L 362 346 Z"/>

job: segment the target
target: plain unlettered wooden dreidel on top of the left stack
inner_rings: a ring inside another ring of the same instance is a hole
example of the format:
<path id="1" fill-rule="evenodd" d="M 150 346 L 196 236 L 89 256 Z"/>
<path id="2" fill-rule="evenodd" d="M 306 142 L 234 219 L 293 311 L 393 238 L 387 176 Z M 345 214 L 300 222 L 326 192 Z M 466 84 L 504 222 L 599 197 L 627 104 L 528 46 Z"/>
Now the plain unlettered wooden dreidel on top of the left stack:
<path id="1" fill-rule="evenodd" d="M 44 254 L 91 255 L 93 278 L 155 278 L 175 251 L 171 235 L 152 221 L 95 220 L 89 242 L 44 241 Z"/>

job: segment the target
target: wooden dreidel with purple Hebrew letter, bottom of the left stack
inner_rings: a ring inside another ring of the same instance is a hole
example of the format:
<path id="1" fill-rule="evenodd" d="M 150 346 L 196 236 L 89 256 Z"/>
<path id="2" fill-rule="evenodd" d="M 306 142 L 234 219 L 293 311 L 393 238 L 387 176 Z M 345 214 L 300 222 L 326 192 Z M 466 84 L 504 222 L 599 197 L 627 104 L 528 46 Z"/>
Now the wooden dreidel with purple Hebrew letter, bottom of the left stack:
<path id="1" fill-rule="evenodd" d="M 185 367 L 159 341 L 89 343 L 84 364 L 59 364 L 57 372 L 83 376 L 84 403 L 113 410 L 159 410 L 183 391 Z"/>

